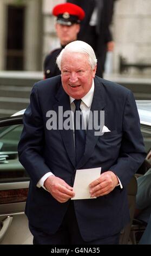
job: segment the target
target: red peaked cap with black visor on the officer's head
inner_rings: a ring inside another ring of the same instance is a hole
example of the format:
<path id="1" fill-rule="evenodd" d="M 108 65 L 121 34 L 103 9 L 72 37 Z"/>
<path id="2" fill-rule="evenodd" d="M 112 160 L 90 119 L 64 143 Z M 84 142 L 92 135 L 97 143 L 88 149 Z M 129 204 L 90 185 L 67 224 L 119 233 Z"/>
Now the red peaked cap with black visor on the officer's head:
<path id="1" fill-rule="evenodd" d="M 57 23 L 66 26 L 80 23 L 85 17 L 83 9 L 72 3 L 57 4 L 52 10 L 52 14 L 57 17 Z"/>

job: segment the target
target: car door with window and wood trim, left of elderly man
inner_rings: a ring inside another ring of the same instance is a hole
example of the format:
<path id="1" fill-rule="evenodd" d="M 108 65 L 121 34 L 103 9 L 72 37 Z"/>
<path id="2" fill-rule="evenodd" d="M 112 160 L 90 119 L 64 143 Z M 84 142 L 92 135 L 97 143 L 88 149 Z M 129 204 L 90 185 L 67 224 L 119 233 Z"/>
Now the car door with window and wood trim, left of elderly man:
<path id="1" fill-rule="evenodd" d="M 0 244 L 31 244 L 24 214 L 29 175 L 18 161 L 22 117 L 0 119 Z"/>

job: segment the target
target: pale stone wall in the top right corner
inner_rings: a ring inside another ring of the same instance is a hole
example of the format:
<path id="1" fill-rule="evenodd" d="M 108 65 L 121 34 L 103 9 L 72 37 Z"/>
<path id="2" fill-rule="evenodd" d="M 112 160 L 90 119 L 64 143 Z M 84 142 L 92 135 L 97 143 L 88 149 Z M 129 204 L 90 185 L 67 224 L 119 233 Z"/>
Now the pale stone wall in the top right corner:
<path id="1" fill-rule="evenodd" d="M 119 71 L 119 56 L 128 62 L 151 64 L 151 1 L 119 0 L 113 20 L 115 40 L 114 71 Z M 131 72 L 140 73 L 133 69 Z M 151 69 L 143 71 L 151 74 Z"/>

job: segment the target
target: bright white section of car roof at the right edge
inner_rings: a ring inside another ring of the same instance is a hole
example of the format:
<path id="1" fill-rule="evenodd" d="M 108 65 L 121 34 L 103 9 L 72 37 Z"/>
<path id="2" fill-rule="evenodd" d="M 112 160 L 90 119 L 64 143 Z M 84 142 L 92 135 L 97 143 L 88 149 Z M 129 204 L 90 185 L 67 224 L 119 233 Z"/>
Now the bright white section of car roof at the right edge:
<path id="1" fill-rule="evenodd" d="M 136 100 L 141 124 L 151 126 L 151 100 Z"/>

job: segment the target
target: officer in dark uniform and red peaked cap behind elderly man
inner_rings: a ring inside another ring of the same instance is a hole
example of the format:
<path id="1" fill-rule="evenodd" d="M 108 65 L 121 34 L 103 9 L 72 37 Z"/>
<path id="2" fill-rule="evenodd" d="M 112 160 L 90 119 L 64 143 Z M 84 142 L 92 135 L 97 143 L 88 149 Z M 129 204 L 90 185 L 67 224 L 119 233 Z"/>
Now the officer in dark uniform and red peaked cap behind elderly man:
<path id="1" fill-rule="evenodd" d="M 56 33 L 60 39 L 61 47 L 50 52 L 44 60 L 44 78 L 60 75 L 61 72 L 56 65 L 56 58 L 65 45 L 77 40 L 80 31 L 80 22 L 84 19 L 85 13 L 81 7 L 72 3 L 57 4 L 52 10 L 56 16 Z"/>

